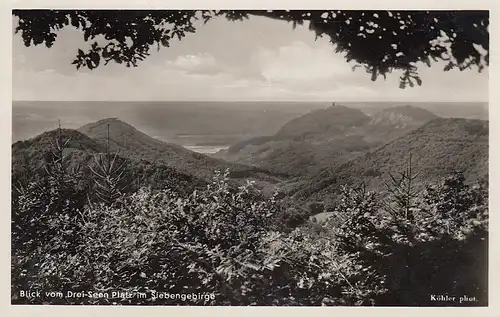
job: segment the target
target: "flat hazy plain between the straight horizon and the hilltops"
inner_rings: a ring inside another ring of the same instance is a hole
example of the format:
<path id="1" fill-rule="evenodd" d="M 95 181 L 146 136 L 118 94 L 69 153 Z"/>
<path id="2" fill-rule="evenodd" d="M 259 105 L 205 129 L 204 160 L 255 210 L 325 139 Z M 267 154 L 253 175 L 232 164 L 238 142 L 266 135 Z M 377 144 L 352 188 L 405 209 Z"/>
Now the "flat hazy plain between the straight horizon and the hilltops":
<path id="1" fill-rule="evenodd" d="M 102 104 L 106 103 L 107 106 Z M 13 101 L 12 142 L 58 127 L 78 129 L 118 118 L 151 137 L 205 153 L 243 139 L 272 135 L 285 123 L 331 101 Z M 488 120 L 487 102 L 339 102 L 367 115 L 412 105 L 441 117 Z M 120 108 L 117 112 L 116 109 Z M 188 136 L 188 137 L 186 137 Z M 205 145 L 210 144 L 210 145 Z"/>

